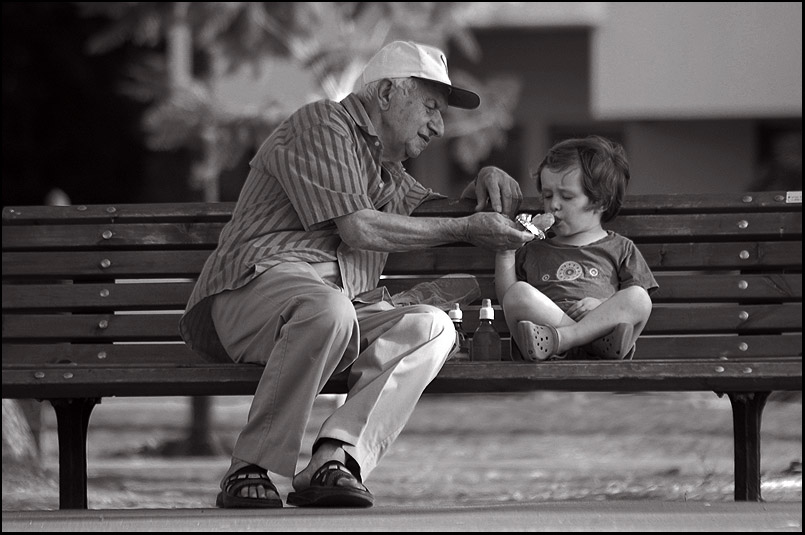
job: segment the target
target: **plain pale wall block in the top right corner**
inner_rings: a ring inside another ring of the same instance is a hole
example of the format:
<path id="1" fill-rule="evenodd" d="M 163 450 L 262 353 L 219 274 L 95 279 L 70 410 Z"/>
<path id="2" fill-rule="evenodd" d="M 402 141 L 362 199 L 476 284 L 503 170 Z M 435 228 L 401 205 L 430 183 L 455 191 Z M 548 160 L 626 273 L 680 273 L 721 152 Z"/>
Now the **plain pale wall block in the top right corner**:
<path id="1" fill-rule="evenodd" d="M 610 2 L 592 53 L 597 119 L 802 115 L 801 2 Z"/>

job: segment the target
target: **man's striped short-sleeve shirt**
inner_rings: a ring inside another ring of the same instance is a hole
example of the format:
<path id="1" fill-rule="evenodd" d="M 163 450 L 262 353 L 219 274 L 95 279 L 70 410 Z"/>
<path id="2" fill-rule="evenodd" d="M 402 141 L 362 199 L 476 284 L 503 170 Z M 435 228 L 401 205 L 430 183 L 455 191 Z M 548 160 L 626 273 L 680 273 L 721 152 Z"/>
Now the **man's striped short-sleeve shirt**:
<path id="1" fill-rule="evenodd" d="M 405 172 L 381 164 L 382 145 L 360 100 L 308 104 L 263 143 L 196 282 L 179 330 L 195 351 L 229 360 L 211 319 L 210 297 L 240 288 L 260 268 L 337 261 L 351 298 L 376 288 L 387 253 L 341 241 L 333 219 L 358 210 L 409 215 L 439 197 Z"/>

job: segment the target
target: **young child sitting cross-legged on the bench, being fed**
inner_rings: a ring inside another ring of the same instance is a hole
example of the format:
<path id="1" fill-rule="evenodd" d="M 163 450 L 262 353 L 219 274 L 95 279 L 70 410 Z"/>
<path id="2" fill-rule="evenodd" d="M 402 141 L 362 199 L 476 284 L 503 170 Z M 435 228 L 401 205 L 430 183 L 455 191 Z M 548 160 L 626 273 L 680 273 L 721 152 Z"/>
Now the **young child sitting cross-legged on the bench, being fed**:
<path id="1" fill-rule="evenodd" d="M 598 136 L 562 141 L 534 178 L 553 236 L 495 260 L 514 341 L 526 360 L 632 358 L 658 286 L 635 244 L 601 226 L 626 194 L 623 147 Z"/>

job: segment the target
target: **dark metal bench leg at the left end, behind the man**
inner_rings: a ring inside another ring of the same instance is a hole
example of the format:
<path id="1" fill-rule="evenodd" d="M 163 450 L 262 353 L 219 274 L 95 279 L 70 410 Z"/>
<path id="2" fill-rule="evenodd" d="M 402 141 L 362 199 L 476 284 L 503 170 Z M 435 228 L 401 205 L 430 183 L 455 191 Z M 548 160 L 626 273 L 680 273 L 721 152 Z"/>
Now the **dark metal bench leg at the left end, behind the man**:
<path id="1" fill-rule="evenodd" d="M 98 398 L 52 399 L 59 432 L 59 509 L 87 508 L 87 427 Z"/>

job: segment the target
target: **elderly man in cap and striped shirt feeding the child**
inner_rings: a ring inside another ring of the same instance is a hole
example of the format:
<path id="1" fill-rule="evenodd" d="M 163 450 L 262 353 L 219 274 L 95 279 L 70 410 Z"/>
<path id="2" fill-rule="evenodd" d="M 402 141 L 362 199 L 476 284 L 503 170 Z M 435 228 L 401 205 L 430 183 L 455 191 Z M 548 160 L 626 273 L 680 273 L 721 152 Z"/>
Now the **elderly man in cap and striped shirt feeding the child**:
<path id="1" fill-rule="evenodd" d="M 401 162 L 443 135 L 447 106 L 480 104 L 451 84 L 440 50 L 390 43 L 361 81 L 341 102 L 302 107 L 263 143 L 180 322 L 208 358 L 264 366 L 219 507 L 282 507 L 272 472 L 293 476 L 290 505 L 371 506 L 363 480 L 456 339 L 443 311 L 391 304 L 377 286 L 388 253 L 455 241 L 504 250 L 533 238 L 503 215 L 521 192 L 493 167 L 464 196 L 494 211 L 410 217 L 437 195 Z M 295 473 L 313 402 L 347 368 L 346 401 Z"/>

